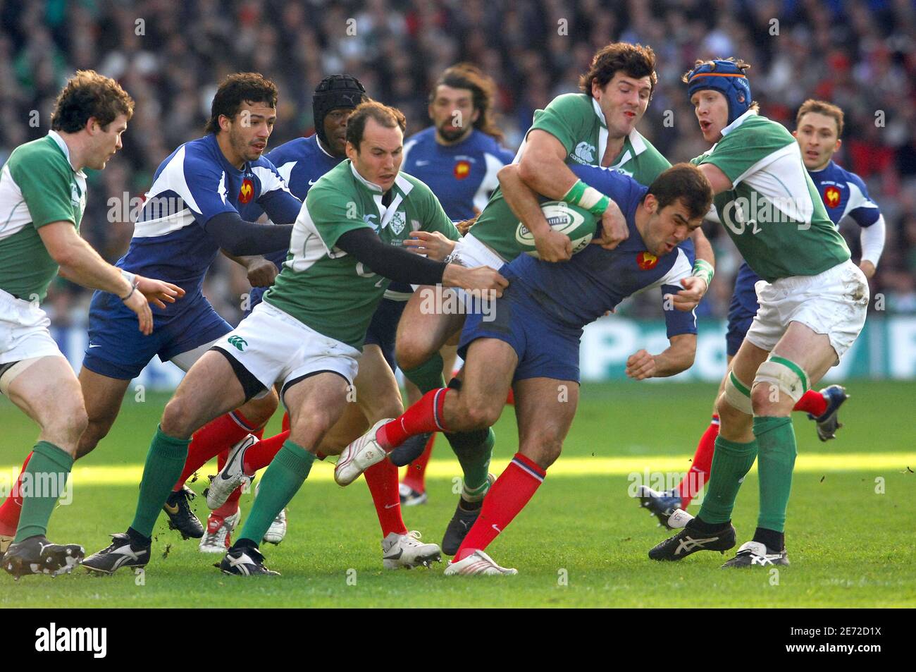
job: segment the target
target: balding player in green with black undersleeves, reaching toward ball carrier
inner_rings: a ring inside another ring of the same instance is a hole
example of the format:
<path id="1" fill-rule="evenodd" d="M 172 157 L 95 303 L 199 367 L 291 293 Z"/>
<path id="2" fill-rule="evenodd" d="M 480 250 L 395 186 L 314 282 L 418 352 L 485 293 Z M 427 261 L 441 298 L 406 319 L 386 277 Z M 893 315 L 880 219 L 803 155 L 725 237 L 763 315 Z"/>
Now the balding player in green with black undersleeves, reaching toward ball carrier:
<path id="1" fill-rule="evenodd" d="M 300 489 L 322 437 L 344 413 L 366 328 L 388 282 L 442 283 L 497 296 L 507 286 L 496 270 L 433 261 L 402 247 L 414 230 L 458 237 L 429 188 L 399 172 L 404 127 L 394 108 L 356 107 L 347 121 L 348 160 L 309 191 L 274 286 L 191 367 L 162 415 L 149 454 L 158 464 L 183 464 L 197 429 L 281 384 L 289 439 L 223 559 L 226 573 L 275 573 L 264 567 L 257 542 Z M 112 572 L 147 564 L 151 541 L 136 528 L 151 529 L 173 485 L 152 476 L 144 474 L 135 522 L 86 558 L 87 565 Z"/>

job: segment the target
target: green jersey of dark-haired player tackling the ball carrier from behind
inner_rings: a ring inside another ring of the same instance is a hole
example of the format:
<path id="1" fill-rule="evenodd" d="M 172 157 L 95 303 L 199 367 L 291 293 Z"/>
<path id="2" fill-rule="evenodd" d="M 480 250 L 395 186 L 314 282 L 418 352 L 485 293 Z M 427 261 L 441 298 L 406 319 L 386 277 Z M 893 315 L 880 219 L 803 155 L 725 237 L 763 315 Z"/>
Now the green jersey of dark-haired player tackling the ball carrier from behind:
<path id="1" fill-rule="evenodd" d="M 601 165 L 608 134 L 605 116 L 591 95 L 557 96 L 545 109 L 534 113 L 529 133 L 536 128 L 547 131 L 562 142 L 567 152 L 566 163 Z M 634 128 L 624 138 L 623 149 L 611 162 L 610 168 L 649 186 L 662 171 L 671 168 L 671 163 Z M 493 248 L 500 257 L 511 261 L 523 251 L 515 237 L 516 225 L 518 218 L 512 214 L 501 190 L 497 189 L 471 228 L 471 233 Z"/>

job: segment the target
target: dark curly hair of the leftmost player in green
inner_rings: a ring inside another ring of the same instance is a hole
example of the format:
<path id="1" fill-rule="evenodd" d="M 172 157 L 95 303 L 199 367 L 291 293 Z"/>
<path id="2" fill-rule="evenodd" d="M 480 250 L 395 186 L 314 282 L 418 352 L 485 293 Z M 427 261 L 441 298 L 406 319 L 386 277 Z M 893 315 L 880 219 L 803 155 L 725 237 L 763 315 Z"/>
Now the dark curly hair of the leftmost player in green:
<path id="1" fill-rule="evenodd" d="M 51 114 L 51 129 L 81 131 L 90 118 L 107 127 L 114 117 L 134 115 L 134 99 L 113 79 L 94 70 L 79 70 L 64 85 Z"/>

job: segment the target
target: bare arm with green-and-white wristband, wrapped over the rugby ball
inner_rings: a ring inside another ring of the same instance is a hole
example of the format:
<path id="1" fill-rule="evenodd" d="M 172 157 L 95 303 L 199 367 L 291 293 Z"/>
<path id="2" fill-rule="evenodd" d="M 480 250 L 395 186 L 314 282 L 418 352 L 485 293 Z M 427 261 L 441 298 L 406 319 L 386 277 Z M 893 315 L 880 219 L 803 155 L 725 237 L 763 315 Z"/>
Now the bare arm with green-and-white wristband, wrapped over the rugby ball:
<path id="1" fill-rule="evenodd" d="M 567 153 L 568 149 L 556 136 L 540 128 L 532 128 L 518 161 L 518 177 L 534 193 L 554 201 L 579 205 L 600 216 L 602 236 L 594 242 L 605 249 L 616 248 L 629 236 L 627 219 L 613 201 L 575 176 L 566 165 Z"/>

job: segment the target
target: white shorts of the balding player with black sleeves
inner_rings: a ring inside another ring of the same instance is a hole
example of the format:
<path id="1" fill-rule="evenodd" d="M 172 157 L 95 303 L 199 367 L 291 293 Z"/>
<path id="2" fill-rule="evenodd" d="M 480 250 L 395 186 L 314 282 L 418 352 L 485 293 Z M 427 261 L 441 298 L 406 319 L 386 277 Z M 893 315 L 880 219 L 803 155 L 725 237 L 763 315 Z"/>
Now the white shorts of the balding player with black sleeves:
<path id="1" fill-rule="evenodd" d="M 362 353 L 323 336 L 270 303 L 261 302 L 231 332 L 213 344 L 269 390 L 320 371 L 333 371 L 351 385 Z"/>

